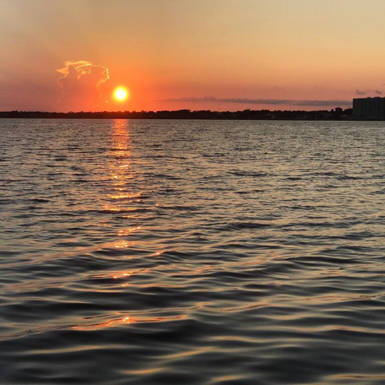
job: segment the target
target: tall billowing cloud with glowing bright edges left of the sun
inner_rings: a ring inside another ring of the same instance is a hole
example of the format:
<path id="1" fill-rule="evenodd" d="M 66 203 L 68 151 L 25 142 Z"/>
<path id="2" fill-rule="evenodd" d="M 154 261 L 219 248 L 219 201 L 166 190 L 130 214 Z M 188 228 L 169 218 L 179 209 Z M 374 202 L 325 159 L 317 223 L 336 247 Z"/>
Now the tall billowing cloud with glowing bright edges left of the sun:
<path id="1" fill-rule="evenodd" d="M 94 110 L 108 103 L 101 93 L 101 86 L 109 79 L 108 68 L 86 60 L 65 61 L 64 67 L 56 70 L 61 76 L 59 84 L 62 95 L 59 105 L 64 110 Z"/>

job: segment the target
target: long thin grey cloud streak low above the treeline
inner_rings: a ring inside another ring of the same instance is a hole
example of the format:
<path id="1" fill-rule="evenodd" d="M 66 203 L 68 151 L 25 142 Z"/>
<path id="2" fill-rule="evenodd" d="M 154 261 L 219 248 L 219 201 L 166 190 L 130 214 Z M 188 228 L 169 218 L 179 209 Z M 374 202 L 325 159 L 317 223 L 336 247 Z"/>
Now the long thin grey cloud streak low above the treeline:
<path id="1" fill-rule="evenodd" d="M 181 97 L 160 99 L 165 102 L 217 102 L 217 103 L 239 103 L 239 104 L 288 104 L 293 106 L 350 106 L 350 100 L 293 100 L 293 99 L 249 99 L 249 98 L 216 98 L 205 96 L 203 98 Z"/>

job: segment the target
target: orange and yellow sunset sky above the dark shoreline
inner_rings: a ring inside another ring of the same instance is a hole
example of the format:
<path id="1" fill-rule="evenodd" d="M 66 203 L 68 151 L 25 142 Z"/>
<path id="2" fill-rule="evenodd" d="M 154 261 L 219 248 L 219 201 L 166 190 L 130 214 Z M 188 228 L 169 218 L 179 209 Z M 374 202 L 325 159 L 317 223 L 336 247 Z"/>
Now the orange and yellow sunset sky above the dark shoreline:
<path id="1" fill-rule="evenodd" d="M 385 96 L 384 15 L 383 0 L 0 0 L 0 110 L 346 108 Z"/>

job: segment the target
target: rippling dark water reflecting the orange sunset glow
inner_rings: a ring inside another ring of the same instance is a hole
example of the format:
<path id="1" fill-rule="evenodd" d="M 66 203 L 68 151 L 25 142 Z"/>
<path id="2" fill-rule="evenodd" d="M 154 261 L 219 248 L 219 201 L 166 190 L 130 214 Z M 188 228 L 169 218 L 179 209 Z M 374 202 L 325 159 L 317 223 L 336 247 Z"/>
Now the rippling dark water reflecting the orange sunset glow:
<path id="1" fill-rule="evenodd" d="M 0 138 L 1 384 L 385 383 L 385 123 Z"/>

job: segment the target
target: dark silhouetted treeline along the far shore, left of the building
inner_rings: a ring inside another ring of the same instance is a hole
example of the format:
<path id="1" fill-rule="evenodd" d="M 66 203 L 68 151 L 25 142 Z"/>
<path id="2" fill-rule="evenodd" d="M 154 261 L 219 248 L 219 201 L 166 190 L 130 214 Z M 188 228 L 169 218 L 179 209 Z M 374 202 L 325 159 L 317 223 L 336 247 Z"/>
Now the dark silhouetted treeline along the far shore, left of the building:
<path id="1" fill-rule="evenodd" d="M 0 118 L 46 118 L 46 119 L 224 119 L 224 120 L 350 120 L 352 109 L 342 108 L 317 111 L 117 111 L 117 112 L 43 112 L 6 111 Z"/>

